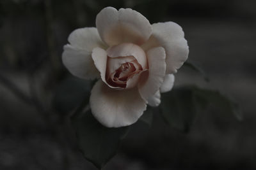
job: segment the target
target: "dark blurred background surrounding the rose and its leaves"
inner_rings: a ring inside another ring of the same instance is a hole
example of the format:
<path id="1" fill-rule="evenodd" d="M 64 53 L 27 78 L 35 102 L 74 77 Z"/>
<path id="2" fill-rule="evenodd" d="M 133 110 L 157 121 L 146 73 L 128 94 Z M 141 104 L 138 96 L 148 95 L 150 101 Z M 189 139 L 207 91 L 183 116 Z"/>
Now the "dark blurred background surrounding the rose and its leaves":
<path id="1" fill-rule="evenodd" d="M 244 118 L 239 122 L 212 106 L 198 113 L 184 134 L 155 113 L 152 127 L 132 126 L 104 169 L 256 169 L 253 0 L 1 0 L 0 169 L 95 169 L 77 150 L 68 114 L 56 111 L 52 96 L 70 76 L 61 63 L 68 34 L 95 26 L 106 6 L 132 8 L 152 24 L 171 20 L 181 25 L 189 60 L 211 81 L 182 68 L 175 87 L 218 89 L 241 105 Z M 60 93 L 65 96 L 65 90 Z"/>

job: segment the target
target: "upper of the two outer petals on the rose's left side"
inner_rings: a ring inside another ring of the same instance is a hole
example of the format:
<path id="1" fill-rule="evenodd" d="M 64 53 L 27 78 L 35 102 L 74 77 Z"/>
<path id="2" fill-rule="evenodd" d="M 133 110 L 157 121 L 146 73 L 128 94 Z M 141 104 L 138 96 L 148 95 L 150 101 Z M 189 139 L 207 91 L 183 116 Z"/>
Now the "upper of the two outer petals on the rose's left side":
<path id="1" fill-rule="evenodd" d="M 86 52 L 92 52 L 93 48 L 97 46 L 106 48 L 106 44 L 100 39 L 99 32 L 95 27 L 76 29 L 68 36 L 68 42 Z"/>

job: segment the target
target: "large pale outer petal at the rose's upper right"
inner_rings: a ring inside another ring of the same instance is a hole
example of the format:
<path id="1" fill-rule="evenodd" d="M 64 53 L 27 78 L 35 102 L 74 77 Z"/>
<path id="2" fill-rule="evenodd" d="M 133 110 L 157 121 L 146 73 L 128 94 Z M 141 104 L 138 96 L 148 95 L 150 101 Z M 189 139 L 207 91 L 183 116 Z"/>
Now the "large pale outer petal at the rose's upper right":
<path id="1" fill-rule="evenodd" d="M 184 39 L 184 32 L 180 25 L 174 22 L 153 24 L 150 39 L 142 48 L 148 50 L 156 46 L 163 46 L 166 52 L 166 73 L 176 73 L 188 59 L 188 42 Z"/>

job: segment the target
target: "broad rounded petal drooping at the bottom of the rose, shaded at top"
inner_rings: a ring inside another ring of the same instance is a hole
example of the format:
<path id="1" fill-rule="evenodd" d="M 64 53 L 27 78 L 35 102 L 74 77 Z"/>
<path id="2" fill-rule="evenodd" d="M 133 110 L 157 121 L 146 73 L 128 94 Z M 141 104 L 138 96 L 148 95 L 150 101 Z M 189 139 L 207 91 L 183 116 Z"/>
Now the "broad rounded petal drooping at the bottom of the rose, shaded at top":
<path id="1" fill-rule="evenodd" d="M 93 116 L 106 127 L 131 125 L 147 108 L 138 89 L 115 90 L 101 80 L 97 81 L 92 89 L 90 106 Z"/>

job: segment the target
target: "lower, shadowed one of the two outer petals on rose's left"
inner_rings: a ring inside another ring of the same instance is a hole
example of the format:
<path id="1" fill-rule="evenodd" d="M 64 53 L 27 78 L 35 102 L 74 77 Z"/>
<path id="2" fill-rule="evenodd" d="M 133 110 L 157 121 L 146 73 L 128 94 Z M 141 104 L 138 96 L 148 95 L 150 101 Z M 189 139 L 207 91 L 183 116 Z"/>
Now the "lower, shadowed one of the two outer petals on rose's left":
<path id="1" fill-rule="evenodd" d="M 71 45 L 65 45 L 62 61 L 64 66 L 74 76 L 84 79 L 99 77 L 99 72 L 93 64 L 91 52 L 86 52 Z"/>

